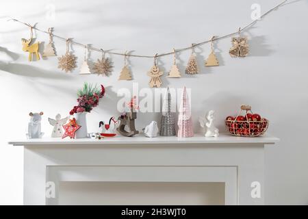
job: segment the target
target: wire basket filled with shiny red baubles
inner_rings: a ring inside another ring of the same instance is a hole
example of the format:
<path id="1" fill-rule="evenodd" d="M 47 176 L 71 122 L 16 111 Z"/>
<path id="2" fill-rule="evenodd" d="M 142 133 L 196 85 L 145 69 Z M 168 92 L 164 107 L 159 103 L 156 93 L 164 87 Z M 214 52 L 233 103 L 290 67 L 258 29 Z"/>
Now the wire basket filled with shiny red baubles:
<path id="1" fill-rule="evenodd" d="M 241 115 L 243 111 L 245 112 L 244 118 Z M 232 136 L 256 137 L 266 132 L 269 121 L 266 118 L 253 120 L 250 116 L 252 114 L 251 106 L 242 105 L 238 116 L 233 120 L 230 118 L 225 120 L 225 125 Z"/>

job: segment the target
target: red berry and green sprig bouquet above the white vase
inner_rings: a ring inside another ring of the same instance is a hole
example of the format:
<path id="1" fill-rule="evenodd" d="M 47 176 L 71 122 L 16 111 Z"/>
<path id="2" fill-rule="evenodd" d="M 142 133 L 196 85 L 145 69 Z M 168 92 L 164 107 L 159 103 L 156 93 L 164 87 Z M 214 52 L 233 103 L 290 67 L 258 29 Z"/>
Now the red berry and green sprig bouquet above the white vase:
<path id="1" fill-rule="evenodd" d="M 77 102 L 72 110 L 70 110 L 70 115 L 79 112 L 91 112 L 93 107 L 99 105 L 99 99 L 101 99 L 105 94 L 105 88 L 101 85 L 101 90 L 97 86 L 92 84 L 84 83 L 84 88 L 77 91 Z"/>

